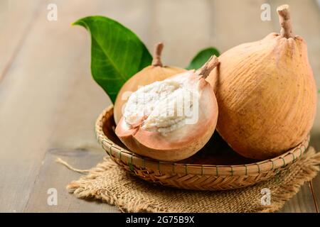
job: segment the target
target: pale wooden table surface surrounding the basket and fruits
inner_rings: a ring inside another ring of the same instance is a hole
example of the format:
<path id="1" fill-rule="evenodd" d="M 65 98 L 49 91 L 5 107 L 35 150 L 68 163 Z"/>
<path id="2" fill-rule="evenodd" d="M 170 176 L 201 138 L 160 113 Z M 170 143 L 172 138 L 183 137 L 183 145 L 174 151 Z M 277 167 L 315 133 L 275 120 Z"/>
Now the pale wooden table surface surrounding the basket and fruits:
<path id="1" fill-rule="evenodd" d="M 263 3 L 271 6 L 271 21 L 260 19 Z M 149 50 L 163 41 L 163 62 L 185 67 L 201 48 L 225 51 L 279 31 L 276 7 L 283 3 L 291 7 L 294 33 L 308 43 L 320 88 L 320 10 L 313 0 L 0 0 L 0 211 L 117 212 L 68 194 L 66 184 L 80 174 L 55 163 L 61 157 L 87 169 L 105 155 L 93 126 L 110 99 L 90 75 L 90 37 L 84 28 L 70 26 L 73 21 L 114 18 Z M 58 6 L 58 21 L 48 21 L 48 4 Z M 320 101 L 311 132 L 316 150 L 319 110 Z M 319 204 L 320 175 L 312 184 Z M 57 206 L 47 204 L 50 188 L 57 189 Z M 316 212 L 309 184 L 282 211 Z"/>

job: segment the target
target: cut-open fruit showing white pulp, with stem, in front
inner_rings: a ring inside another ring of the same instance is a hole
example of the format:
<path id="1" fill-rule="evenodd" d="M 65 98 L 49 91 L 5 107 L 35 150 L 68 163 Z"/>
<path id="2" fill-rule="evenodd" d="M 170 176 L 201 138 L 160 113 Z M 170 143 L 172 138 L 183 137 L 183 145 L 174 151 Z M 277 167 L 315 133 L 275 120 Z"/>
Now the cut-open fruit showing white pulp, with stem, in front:
<path id="1" fill-rule="evenodd" d="M 134 92 L 115 133 L 132 152 L 156 160 L 190 157 L 215 131 L 218 105 L 206 77 L 218 65 L 211 57 L 199 70 L 176 74 Z"/>

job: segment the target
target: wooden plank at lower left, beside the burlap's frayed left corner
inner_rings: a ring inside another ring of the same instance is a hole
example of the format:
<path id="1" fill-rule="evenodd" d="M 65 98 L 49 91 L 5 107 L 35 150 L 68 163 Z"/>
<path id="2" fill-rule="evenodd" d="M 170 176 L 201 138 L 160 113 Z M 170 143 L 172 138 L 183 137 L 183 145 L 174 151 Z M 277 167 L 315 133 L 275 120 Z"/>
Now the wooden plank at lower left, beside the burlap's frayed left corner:
<path id="1" fill-rule="evenodd" d="M 81 174 L 68 170 L 63 165 L 55 163 L 57 157 L 70 163 L 74 167 L 90 168 L 97 162 L 102 161 L 105 155 L 103 150 L 59 150 L 50 149 L 43 160 L 41 171 L 33 187 L 26 212 L 117 212 L 115 206 L 100 203 L 97 201 L 86 201 L 77 199 L 68 194 L 65 186 Z M 47 202 L 48 190 L 57 190 L 57 204 L 50 205 Z"/>

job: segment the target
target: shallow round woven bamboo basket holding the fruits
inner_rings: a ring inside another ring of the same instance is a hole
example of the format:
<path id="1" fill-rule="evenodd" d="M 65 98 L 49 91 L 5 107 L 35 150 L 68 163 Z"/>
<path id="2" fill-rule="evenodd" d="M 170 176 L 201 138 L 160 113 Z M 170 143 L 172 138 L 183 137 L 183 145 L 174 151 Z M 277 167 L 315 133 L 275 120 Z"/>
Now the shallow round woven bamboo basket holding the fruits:
<path id="1" fill-rule="evenodd" d="M 113 106 L 97 118 L 95 132 L 102 148 L 119 166 L 148 182 L 180 189 L 226 190 L 262 182 L 302 156 L 309 135 L 296 148 L 270 160 L 250 160 L 235 153 L 218 134 L 196 155 L 180 162 L 162 162 L 127 150 L 114 134 Z"/>

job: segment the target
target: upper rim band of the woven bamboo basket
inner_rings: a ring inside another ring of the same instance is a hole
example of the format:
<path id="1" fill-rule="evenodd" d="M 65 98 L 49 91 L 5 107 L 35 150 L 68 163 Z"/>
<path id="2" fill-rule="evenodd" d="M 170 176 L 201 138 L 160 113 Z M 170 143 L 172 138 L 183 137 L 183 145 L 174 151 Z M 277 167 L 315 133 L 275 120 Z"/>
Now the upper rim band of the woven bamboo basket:
<path id="1" fill-rule="evenodd" d="M 194 174 L 194 175 L 215 175 L 215 176 L 243 176 L 243 175 L 258 175 L 262 172 L 274 171 L 279 168 L 285 167 L 292 162 L 295 162 L 308 148 L 310 135 L 297 145 L 295 148 L 288 150 L 286 153 L 273 157 L 272 159 L 262 160 L 259 162 L 253 162 L 243 165 L 201 165 L 190 163 L 176 163 L 165 162 L 160 160 L 153 160 L 149 157 L 142 157 L 134 154 L 131 151 L 120 147 L 112 140 L 107 138 L 102 128 L 107 120 L 107 114 L 109 117 L 113 116 L 113 105 L 108 106 L 98 116 L 95 123 L 95 134 L 98 142 L 102 145 L 102 148 L 112 158 L 117 158 L 123 162 L 124 165 L 128 165 L 130 170 L 134 171 L 135 167 L 140 170 L 157 170 L 161 172 L 174 172 L 175 174 Z"/>

